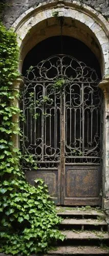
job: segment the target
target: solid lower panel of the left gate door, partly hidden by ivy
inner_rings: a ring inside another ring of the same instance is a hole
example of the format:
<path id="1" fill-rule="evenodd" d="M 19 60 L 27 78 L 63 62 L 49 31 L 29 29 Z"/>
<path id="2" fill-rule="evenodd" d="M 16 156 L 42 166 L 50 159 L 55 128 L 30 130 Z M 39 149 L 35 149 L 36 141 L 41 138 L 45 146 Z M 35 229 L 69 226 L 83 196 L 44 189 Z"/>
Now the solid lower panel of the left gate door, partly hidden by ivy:
<path id="1" fill-rule="evenodd" d="M 58 170 L 35 170 L 27 171 L 26 179 L 31 185 L 35 185 L 35 179 L 42 179 L 48 186 L 49 194 L 55 204 L 60 204 L 60 179 Z"/>

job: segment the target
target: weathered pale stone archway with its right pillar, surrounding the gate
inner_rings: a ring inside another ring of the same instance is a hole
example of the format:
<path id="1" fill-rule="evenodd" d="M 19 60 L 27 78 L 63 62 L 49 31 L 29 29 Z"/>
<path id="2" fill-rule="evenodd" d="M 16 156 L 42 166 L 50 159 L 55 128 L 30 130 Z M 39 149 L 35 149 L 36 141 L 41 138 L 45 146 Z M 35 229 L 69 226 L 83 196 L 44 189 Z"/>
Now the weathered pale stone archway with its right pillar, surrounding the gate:
<path id="1" fill-rule="evenodd" d="M 63 35 L 70 35 L 83 41 L 99 59 L 101 65 L 102 81 L 100 87 L 104 92 L 104 149 L 103 152 L 103 204 L 108 208 L 108 184 L 109 184 L 109 135 L 108 135 L 108 86 L 109 86 L 109 53 L 108 53 L 108 23 L 104 17 L 94 11 L 91 7 L 78 1 L 54 1 L 44 2 L 37 7 L 29 9 L 22 14 L 13 24 L 18 34 L 20 47 L 20 58 L 23 61 L 26 54 L 39 41 L 53 35 L 60 34 L 58 20 L 53 16 L 64 17 L 62 28 Z M 19 65 L 21 70 L 21 62 Z"/>

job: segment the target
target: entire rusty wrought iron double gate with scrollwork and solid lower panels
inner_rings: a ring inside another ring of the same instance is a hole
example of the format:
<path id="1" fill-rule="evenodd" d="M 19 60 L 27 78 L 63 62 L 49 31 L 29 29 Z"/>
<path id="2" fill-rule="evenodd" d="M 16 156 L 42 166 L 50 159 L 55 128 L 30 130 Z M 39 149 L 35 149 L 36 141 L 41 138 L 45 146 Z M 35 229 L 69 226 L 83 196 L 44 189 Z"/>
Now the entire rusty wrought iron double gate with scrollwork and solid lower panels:
<path id="1" fill-rule="evenodd" d="M 57 55 L 25 77 L 23 151 L 27 180 L 42 178 L 56 204 L 100 204 L 101 97 L 95 70 Z M 31 169 L 31 172 L 29 170 Z"/>

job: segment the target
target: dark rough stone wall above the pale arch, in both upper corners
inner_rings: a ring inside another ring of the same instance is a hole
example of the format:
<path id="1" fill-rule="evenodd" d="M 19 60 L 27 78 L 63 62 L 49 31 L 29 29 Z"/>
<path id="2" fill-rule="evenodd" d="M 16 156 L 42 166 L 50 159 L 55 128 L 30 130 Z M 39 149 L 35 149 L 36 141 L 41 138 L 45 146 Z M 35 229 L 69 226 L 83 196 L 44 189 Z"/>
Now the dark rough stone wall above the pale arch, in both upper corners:
<path id="1" fill-rule="evenodd" d="M 34 5 L 39 5 L 39 3 L 45 0 L 3 0 L 7 7 L 3 11 L 3 23 L 7 28 L 15 22 L 15 20 L 26 10 Z M 47 0 L 47 2 L 51 2 Z M 57 0 L 58 2 L 58 0 Z M 72 0 L 72 2 L 74 2 Z M 80 0 L 79 2 L 89 5 L 109 20 L 109 0 Z"/>

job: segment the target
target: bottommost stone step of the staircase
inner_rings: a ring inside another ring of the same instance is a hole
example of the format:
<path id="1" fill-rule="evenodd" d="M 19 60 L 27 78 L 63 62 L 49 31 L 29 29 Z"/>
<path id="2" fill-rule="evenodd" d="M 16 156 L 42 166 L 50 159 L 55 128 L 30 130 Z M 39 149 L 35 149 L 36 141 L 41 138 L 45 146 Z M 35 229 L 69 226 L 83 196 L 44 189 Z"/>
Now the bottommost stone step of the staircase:
<path id="1" fill-rule="evenodd" d="M 97 246 L 59 246 L 56 250 L 51 250 L 48 255 L 108 255 L 108 249 Z"/>

